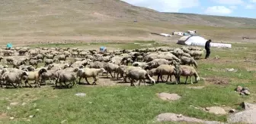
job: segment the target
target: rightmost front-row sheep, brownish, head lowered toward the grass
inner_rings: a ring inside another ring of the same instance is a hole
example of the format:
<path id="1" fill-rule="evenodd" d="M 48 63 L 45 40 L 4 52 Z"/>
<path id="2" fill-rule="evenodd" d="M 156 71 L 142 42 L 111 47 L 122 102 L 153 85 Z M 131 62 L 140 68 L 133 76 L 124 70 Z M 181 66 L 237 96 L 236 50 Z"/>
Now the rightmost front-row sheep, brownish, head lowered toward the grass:
<path id="1" fill-rule="evenodd" d="M 180 65 L 176 66 L 174 69 L 174 73 L 176 76 L 176 84 L 180 83 L 181 76 L 186 76 L 185 84 L 187 84 L 187 77 L 190 76 L 190 82 L 193 84 L 191 76 L 195 77 L 196 82 L 200 80 L 200 77 L 197 74 L 197 70 L 194 69 L 194 67 L 186 66 L 186 65 Z"/>

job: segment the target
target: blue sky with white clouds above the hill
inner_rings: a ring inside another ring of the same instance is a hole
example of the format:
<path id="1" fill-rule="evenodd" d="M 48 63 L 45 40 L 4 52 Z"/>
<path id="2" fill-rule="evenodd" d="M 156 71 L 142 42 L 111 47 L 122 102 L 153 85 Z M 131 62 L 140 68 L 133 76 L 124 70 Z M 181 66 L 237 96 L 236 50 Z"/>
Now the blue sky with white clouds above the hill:
<path id="1" fill-rule="evenodd" d="M 122 0 L 160 12 L 256 18 L 256 0 Z"/>

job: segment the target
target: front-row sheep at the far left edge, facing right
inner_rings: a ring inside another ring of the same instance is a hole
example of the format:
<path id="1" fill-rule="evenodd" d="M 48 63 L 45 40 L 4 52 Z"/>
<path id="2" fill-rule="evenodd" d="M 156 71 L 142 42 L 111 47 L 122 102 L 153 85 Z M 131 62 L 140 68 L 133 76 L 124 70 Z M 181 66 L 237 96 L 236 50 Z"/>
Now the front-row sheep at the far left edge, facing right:
<path id="1" fill-rule="evenodd" d="M 14 83 L 17 83 L 19 87 L 22 88 L 22 85 L 21 85 L 21 77 L 22 76 L 27 76 L 27 73 L 26 72 L 22 72 L 22 73 L 17 73 L 17 72 L 5 72 L 3 75 L 2 75 L 2 80 L 5 80 L 6 82 L 6 88 L 7 88 L 7 85 L 11 83 L 11 85 L 14 86 L 14 88 L 16 88 L 16 86 L 14 85 Z"/>

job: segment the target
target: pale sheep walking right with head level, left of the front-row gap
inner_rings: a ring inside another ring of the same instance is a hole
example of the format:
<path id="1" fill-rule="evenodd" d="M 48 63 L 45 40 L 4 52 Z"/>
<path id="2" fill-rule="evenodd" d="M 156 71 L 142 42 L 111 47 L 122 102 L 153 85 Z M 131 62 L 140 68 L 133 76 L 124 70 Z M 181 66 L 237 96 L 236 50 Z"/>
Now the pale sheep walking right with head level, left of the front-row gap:
<path id="1" fill-rule="evenodd" d="M 96 85 L 96 82 L 97 82 L 97 76 L 99 73 L 105 73 L 106 70 L 104 70 L 104 68 L 101 68 L 101 69 L 91 69 L 91 68 L 85 68 L 85 69 L 79 69 L 78 70 L 78 77 L 79 77 L 79 84 L 81 83 L 81 79 L 82 78 L 85 78 L 85 81 L 88 83 L 88 85 L 91 85 L 89 82 L 88 82 L 88 79 L 89 77 L 92 77 L 94 79 L 94 82 L 93 84 Z"/>

